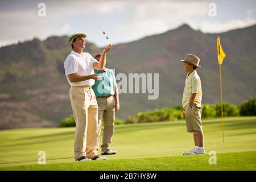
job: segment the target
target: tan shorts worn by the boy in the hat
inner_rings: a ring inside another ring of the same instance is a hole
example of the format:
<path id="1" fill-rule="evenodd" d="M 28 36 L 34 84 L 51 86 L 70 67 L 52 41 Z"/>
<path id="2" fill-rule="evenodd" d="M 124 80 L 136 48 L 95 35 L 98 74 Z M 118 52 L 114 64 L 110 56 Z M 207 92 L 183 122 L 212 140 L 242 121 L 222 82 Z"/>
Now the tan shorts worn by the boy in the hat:
<path id="1" fill-rule="evenodd" d="M 200 104 L 193 104 L 192 108 L 189 104 L 186 107 L 186 125 L 187 131 L 195 133 L 196 131 L 202 131 L 202 106 Z"/>

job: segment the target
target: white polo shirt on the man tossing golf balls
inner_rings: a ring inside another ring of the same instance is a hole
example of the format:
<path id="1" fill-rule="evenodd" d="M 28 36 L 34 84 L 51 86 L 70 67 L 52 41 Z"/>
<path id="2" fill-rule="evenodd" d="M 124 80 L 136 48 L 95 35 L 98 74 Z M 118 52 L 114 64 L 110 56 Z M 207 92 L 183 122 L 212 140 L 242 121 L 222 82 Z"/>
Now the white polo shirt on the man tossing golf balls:
<path id="1" fill-rule="evenodd" d="M 80 82 L 71 82 L 68 75 L 78 73 L 79 75 L 92 75 L 94 74 L 93 63 L 98 62 L 88 52 L 83 52 L 82 55 L 75 51 L 71 51 L 67 59 L 64 61 L 65 75 L 68 83 L 71 86 L 94 85 L 94 80 L 85 80 Z"/>

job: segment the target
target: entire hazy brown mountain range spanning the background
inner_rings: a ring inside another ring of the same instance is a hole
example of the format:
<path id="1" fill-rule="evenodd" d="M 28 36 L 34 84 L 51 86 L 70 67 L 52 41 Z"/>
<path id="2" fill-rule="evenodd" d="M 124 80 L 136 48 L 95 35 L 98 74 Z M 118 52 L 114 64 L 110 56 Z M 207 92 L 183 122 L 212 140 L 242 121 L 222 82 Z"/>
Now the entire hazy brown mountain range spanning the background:
<path id="1" fill-rule="evenodd" d="M 203 103 L 219 102 L 218 35 L 227 55 L 222 64 L 224 101 L 238 104 L 253 98 L 256 26 L 203 34 L 184 24 L 164 34 L 115 45 L 108 53 L 107 67 L 115 68 L 115 73 L 159 73 L 158 100 L 147 100 L 147 94 L 121 94 L 117 117 L 125 119 L 138 111 L 180 105 L 186 75 L 180 60 L 187 53 L 201 59 L 198 73 Z M 54 36 L 0 48 L 0 129 L 57 126 L 72 114 L 63 68 L 71 51 L 67 39 Z M 87 43 L 85 51 L 94 55 L 101 48 Z"/>

